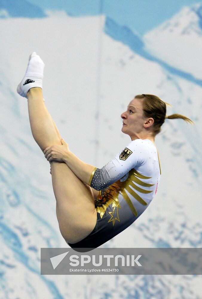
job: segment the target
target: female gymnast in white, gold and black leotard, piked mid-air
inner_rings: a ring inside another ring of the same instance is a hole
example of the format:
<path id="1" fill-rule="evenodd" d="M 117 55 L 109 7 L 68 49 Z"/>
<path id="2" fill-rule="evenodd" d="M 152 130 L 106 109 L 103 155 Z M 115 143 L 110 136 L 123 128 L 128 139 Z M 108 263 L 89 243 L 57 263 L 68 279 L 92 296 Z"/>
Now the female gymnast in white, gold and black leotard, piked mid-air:
<path id="1" fill-rule="evenodd" d="M 33 137 L 51 164 L 56 216 L 72 248 L 97 248 L 131 225 L 149 206 L 160 181 L 154 144 L 166 116 L 166 103 L 151 94 L 136 95 L 123 112 L 122 132 L 131 142 L 101 169 L 74 155 L 61 138 L 42 94 L 45 64 L 33 52 L 17 92 L 27 98 Z"/>

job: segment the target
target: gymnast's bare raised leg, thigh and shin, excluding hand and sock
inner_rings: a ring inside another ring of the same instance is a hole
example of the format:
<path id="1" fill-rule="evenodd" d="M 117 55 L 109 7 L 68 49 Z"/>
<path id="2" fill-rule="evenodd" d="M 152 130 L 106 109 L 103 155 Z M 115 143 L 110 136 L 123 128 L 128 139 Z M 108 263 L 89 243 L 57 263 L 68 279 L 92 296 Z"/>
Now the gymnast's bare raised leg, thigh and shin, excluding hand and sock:
<path id="1" fill-rule="evenodd" d="M 42 89 L 31 88 L 27 99 L 31 131 L 39 147 L 44 151 L 53 144 L 61 145 L 61 137 L 45 108 Z M 69 243 L 78 242 L 91 233 L 97 221 L 91 189 L 65 163 L 52 161 L 51 173 L 61 234 Z"/>

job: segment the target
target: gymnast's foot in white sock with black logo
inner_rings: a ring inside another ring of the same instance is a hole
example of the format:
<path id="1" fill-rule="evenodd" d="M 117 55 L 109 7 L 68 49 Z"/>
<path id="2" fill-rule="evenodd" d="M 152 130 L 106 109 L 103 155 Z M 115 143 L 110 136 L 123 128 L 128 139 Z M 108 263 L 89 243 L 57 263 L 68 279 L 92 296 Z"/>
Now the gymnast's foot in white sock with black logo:
<path id="1" fill-rule="evenodd" d="M 39 55 L 36 55 L 36 52 L 33 52 L 29 57 L 25 77 L 17 87 L 17 92 L 22 97 L 26 97 L 30 88 L 40 87 L 42 89 L 44 66 L 45 64 Z"/>

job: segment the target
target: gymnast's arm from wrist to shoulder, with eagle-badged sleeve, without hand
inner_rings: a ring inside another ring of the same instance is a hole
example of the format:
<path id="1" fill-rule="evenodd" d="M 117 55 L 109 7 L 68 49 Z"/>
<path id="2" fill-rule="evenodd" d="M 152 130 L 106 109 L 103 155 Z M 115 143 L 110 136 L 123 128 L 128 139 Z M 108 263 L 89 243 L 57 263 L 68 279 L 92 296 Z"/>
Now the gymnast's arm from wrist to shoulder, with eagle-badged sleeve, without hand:
<path id="1" fill-rule="evenodd" d="M 81 181 L 96 190 L 102 190 L 121 179 L 136 165 L 142 165 L 147 157 L 148 147 L 141 139 L 136 139 L 102 168 L 81 161 L 71 151 L 68 151 L 63 161 Z"/>

